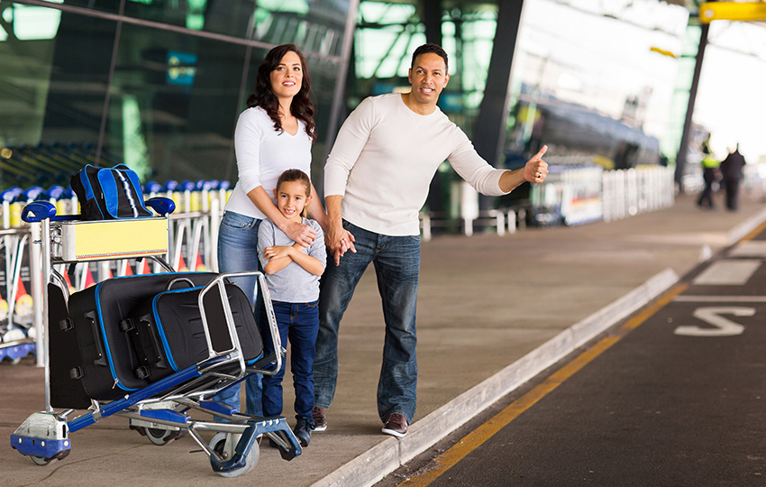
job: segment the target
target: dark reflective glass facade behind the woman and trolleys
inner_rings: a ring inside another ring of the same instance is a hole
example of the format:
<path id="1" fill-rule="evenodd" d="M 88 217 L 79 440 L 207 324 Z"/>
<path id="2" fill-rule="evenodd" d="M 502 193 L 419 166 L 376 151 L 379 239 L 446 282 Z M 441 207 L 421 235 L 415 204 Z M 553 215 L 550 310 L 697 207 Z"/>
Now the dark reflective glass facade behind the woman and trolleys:
<path id="1" fill-rule="evenodd" d="M 234 124 L 283 42 L 308 60 L 322 158 L 350 5 L 0 0 L 0 189 L 66 185 L 51 161 L 97 157 L 143 180 L 235 180 Z"/>

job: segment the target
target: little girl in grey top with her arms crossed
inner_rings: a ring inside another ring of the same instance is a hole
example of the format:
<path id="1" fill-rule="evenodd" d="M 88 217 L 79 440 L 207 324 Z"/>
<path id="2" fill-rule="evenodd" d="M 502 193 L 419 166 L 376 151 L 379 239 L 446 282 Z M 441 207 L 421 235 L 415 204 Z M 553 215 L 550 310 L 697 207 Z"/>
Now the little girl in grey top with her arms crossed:
<path id="1" fill-rule="evenodd" d="M 258 230 L 258 253 L 271 303 L 277 317 L 279 336 L 283 345 L 289 339 L 292 348 L 290 367 L 296 390 L 296 427 L 293 429 L 301 446 L 308 446 L 314 429 L 314 346 L 319 329 L 319 277 L 324 272 L 326 254 L 322 228 L 305 218 L 312 200 L 311 181 L 302 170 L 286 170 L 274 189 L 279 213 L 287 220 L 309 225 L 316 232 L 314 243 L 296 243 L 270 220 L 264 220 Z M 261 323 L 266 323 L 261 320 Z M 264 336 L 266 336 L 264 334 Z M 274 351 L 267 340 L 264 353 Z M 263 376 L 263 414 L 282 414 L 283 367 L 275 375 Z"/>

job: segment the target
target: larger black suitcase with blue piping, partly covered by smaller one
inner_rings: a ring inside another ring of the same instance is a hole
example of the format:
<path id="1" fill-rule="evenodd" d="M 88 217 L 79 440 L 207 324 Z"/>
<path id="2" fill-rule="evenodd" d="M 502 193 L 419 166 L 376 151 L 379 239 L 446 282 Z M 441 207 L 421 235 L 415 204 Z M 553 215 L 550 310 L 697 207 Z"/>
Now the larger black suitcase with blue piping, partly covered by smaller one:
<path id="1" fill-rule="evenodd" d="M 115 400 L 146 387 L 147 378 L 136 377 L 139 363 L 130 338 L 120 330 L 120 322 L 130 317 L 147 299 L 164 291 L 169 281 L 184 277 L 196 286 L 215 278 L 214 272 L 168 272 L 118 277 L 72 294 L 69 316 L 59 324 L 61 330 L 77 333 L 80 365 L 71 368 L 69 378 L 82 381 L 87 396 L 95 400 Z"/>

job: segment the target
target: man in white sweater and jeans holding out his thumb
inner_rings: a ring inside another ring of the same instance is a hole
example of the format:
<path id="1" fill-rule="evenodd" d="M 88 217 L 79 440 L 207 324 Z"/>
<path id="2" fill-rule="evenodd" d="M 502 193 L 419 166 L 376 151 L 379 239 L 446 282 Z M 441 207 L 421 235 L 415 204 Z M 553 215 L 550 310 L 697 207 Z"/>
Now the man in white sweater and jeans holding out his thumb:
<path id="1" fill-rule="evenodd" d="M 415 416 L 415 304 L 420 268 L 418 211 L 433 174 L 450 161 L 479 192 L 500 196 L 548 173 L 543 149 L 521 170 L 496 170 L 436 106 L 447 86 L 447 54 L 435 44 L 415 50 L 412 91 L 369 97 L 343 124 L 324 167 L 329 218 L 325 241 L 334 257 L 322 278 L 315 357 L 316 429 L 338 376 L 338 329 L 361 275 L 372 262 L 386 322 L 378 381 L 383 432 L 405 436 Z M 351 250 L 350 253 L 346 253 Z"/>

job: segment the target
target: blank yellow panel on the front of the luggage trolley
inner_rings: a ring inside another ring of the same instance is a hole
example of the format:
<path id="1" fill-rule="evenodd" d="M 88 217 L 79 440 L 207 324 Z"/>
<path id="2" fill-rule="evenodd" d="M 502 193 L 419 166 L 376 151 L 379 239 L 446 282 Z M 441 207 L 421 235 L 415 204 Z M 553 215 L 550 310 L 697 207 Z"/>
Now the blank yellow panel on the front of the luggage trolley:
<path id="1" fill-rule="evenodd" d="M 62 222 L 65 261 L 143 257 L 168 253 L 168 219 Z"/>

